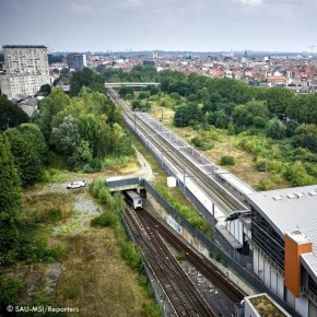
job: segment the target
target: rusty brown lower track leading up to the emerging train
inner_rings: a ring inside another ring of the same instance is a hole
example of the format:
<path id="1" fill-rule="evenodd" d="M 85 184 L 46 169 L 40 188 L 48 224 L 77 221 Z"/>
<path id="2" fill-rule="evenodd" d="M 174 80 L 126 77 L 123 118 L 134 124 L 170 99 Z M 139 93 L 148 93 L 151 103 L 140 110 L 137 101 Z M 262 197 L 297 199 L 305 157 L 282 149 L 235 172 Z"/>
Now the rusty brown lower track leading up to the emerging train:
<path id="1" fill-rule="evenodd" d="M 142 225 L 132 208 L 124 215 L 134 242 L 140 246 L 146 261 L 168 297 L 176 316 L 219 316 L 200 296 L 155 230 Z"/>

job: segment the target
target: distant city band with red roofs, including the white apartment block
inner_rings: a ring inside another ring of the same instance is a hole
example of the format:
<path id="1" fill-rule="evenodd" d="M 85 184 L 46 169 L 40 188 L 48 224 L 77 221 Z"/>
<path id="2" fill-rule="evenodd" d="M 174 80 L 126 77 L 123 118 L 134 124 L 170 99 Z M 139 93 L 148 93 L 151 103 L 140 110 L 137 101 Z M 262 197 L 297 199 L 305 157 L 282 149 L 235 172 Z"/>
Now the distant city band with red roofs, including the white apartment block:
<path id="1" fill-rule="evenodd" d="M 280 86 L 295 93 L 317 91 L 317 55 L 312 52 L 257 51 L 107 51 L 54 52 L 46 46 L 4 45 L 0 59 L 1 93 L 9 98 L 17 94 L 35 95 L 43 84 L 52 84 L 63 68 L 84 67 L 129 71 L 134 66 L 155 67 L 157 71 L 175 70 L 230 78 L 256 86 Z"/>

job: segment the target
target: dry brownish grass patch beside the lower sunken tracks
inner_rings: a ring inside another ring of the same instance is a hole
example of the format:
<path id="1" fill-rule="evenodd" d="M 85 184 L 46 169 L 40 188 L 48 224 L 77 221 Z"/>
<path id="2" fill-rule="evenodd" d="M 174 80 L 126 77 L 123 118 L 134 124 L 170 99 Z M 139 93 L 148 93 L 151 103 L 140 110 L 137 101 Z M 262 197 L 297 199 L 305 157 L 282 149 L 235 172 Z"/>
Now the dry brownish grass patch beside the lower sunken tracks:
<path id="1" fill-rule="evenodd" d="M 64 239 L 69 255 L 58 280 L 58 306 L 79 307 L 72 316 L 161 316 L 144 314 L 155 303 L 138 272 L 122 261 L 113 228 L 92 228 Z"/>

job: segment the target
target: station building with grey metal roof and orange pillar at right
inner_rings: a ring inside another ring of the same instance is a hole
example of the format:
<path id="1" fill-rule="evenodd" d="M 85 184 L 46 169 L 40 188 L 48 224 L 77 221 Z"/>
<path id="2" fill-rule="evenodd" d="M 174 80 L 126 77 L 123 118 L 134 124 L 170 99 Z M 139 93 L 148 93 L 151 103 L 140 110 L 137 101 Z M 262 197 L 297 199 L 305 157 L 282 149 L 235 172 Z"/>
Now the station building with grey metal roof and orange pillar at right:
<path id="1" fill-rule="evenodd" d="M 246 198 L 255 274 L 301 316 L 317 316 L 317 187 Z"/>

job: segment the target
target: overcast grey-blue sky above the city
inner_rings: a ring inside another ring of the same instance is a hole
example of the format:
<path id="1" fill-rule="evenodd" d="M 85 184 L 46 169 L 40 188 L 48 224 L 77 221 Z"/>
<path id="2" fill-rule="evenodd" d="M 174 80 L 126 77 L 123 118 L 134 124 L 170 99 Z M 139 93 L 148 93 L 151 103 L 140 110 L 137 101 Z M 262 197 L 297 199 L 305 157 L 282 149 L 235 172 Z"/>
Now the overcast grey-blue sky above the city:
<path id="1" fill-rule="evenodd" d="M 0 0 L 0 12 L 1 46 L 52 52 L 317 46 L 317 0 Z"/>

